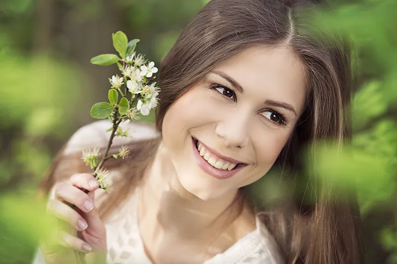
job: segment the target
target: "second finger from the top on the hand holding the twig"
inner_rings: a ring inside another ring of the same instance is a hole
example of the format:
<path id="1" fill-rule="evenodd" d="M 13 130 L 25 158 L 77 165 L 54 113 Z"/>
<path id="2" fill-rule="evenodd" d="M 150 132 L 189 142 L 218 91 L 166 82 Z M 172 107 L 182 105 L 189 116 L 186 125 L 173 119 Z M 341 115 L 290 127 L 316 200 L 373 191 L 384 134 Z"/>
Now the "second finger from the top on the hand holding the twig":
<path id="1" fill-rule="evenodd" d="M 83 212 L 89 212 L 95 207 L 94 202 L 86 193 L 65 182 L 58 183 L 55 186 L 55 198 L 75 205 Z"/>

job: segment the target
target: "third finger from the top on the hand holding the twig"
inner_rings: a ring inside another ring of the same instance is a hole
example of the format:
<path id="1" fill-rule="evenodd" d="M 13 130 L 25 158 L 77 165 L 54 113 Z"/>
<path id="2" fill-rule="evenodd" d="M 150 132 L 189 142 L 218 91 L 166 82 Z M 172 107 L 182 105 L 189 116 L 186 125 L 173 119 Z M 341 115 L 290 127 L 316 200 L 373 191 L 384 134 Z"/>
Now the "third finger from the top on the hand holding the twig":
<path id="1" fill-rule="evenodd" d="M 88 227 L 87 222 L 78 212 L 59 200 L 51 199 L 47 203 L 47 211 L 69 223 L 76 230 L 82 231 Z"/>

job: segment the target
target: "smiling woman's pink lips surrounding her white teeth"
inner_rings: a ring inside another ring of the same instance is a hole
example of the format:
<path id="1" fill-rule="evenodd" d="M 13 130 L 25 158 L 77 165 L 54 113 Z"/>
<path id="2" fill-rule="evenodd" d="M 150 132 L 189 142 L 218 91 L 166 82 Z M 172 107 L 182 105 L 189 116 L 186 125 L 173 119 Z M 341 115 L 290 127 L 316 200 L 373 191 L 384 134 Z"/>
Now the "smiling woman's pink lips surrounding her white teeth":
<path id="1" fill-rule="evenodd" d="M 200 141 L 201 143 L 201 141 Z M 202 143 L 201 143 L 202 144 Z M 206 148 L 206 146 L 203 144 L 204 148 Z M 213 166 L 211 166 L 203 157 L 200 156 L 199 151 L 197 150 L 196 147 L 196 142 L 195 139 L 192 138 L 192 147 L 193 147 L 193 153 L 195 155 L 195 158 L 197 160 L 197 163 L 199 163 L 199 167 L 207 174 L 218 178 L 218 179 L 228 179 L 233 177 L 237 172 L 239 172 L 243 167 L 245 167 L 247 164 L 242 164 L 242 162 L 233 162 L 233 163 L 240 163 L 237 164 L 237 166 L 232 169 L 232 170 L 221 170 L 221 169 L 217 169 Z M 208 150 L 210 152 L 212 152 L 211 149 L 208 148 Z M 213 154 L 217 155 L 217 153 L 213 152 Z M 220 155 L 219 158 L 223 158 L 224 156 Z M 226 158 L 225 158 L 226 160 Z M 237 161 L 235 159 L 230 159 L 230 160 L 234 160 Z"/>

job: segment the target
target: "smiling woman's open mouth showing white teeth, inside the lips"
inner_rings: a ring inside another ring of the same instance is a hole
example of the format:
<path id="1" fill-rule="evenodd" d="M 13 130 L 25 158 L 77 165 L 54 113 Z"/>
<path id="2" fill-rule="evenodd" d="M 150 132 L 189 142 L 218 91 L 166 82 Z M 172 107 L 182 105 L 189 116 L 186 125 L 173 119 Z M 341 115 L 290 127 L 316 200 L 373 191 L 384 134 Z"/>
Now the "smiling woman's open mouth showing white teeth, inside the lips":
<path id="1" fill-rule="evenodd" d="M 216 155 L 212 153 L 208 147 L 203 145 L 201 142 L 199 142 L 197 139 L 193 138 L 193 144 L 196 147 L 196 150 L 199 154 L 199 156 L 207 163 L 210 165 L 213 169 L 219 170 L 219 171 L 235 171 L 238 170 L 246 165 L 247 163 L 243 162 L 238 162 L 235 159 L 231 158 L 226 158 L 226 157 L 219 157 L 219 155 Z"/>

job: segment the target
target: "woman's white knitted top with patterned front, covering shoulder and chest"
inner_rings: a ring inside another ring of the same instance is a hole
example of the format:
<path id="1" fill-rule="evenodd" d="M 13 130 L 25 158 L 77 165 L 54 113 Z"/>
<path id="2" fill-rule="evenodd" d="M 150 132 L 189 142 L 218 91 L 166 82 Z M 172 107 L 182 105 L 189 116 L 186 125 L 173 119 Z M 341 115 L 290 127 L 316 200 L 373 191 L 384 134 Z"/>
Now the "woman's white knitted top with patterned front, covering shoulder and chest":
<path id="1" fill-rule="evenodd" d="M 79 152 L 82 149 L 104 147 L 110 132 L 105 132 L 111 126 L 108 120 L 96 121 L 83 126 L 70 138 L 65 154 Z M 133 140 L 156 137 L 152 127 L 130 123 L 129 138 L 116 137 L 114 144 L 126 144 Z M 117 171 L 112 171 L 116 173 Z M 117 176 L 117 175 L 113 175 Z M 53 194 L 51 194 L 53 195 Z M 134 193 L 105 222 L 108 239 L 108 264 L 152 264 L 145 254 L 143 243 L 137 225 L 137 200 Z M 259 228 L 238 240 L 225 252 L 217 254 L 204 264 L 282 264 L 273 240 L 264 227 Z M 170 245 L 172 246 L 172 245 Z M 46 264 L 38 250 L 33 264 Z"/>

